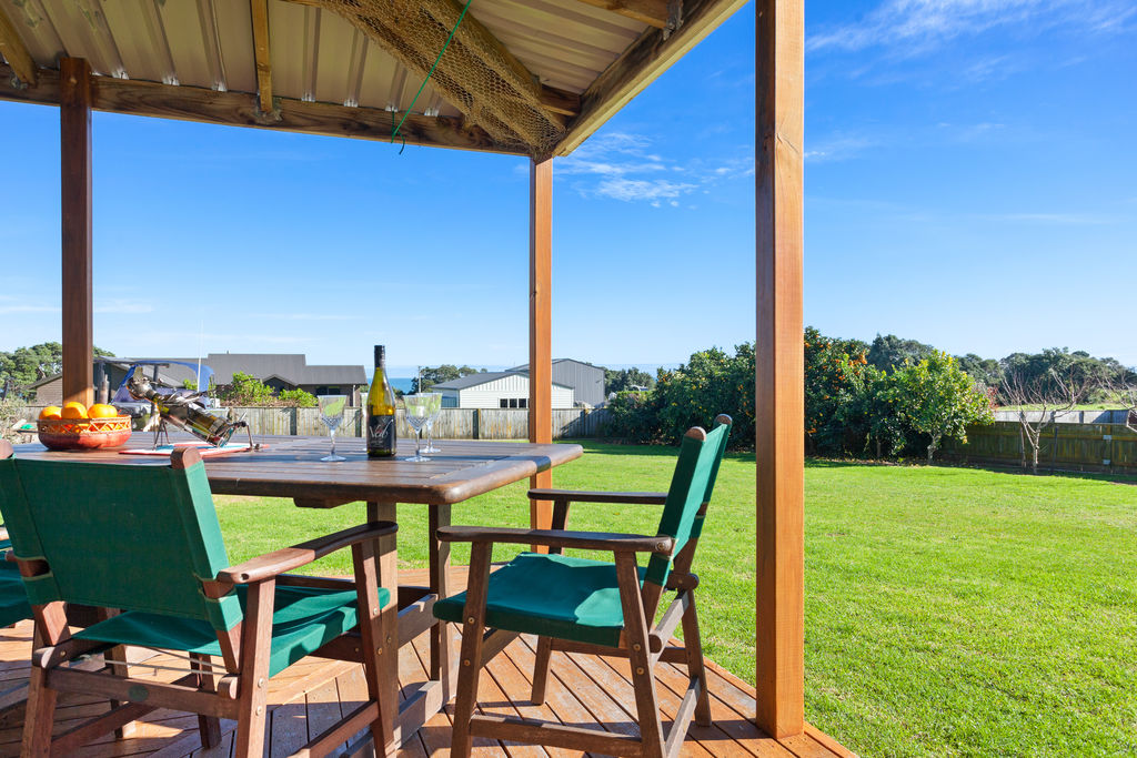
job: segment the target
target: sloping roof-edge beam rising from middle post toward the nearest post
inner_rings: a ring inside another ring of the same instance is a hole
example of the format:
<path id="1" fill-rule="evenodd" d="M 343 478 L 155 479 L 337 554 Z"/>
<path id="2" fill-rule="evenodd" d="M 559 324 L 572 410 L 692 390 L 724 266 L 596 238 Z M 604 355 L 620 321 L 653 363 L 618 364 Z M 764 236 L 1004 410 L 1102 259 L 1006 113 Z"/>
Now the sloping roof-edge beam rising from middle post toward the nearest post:
<path id="1" fill-rule="evenodd" d="M 580 115 L 568 124 L 555 155 L 566 156 L 623 108 L 746 0 L 686 0 L 683 24 L 670 35 L 650 28 L 608 66 L 580 95 Z"/>

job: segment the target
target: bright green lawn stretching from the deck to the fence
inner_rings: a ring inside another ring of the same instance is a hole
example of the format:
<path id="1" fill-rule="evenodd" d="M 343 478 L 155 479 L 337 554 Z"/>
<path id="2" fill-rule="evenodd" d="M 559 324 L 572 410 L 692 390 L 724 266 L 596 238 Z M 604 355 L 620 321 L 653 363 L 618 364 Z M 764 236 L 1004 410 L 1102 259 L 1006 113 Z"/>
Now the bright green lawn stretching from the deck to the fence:
<path id="1" fill-rule="evenodd" d="M 583 444 L 556 486 L 666 489 L 672 451 Z M 750 682 L 754 475 L 753 456 L 723 463 L 696 558 L 706 652 Z M 862 756 L 1137 752 L 1137 486 L 827 461 L 805 476 L 813 724 Z M 456 506 L 454 520 L 528 525 L 524 491 Z M 358 503 L 217 502 L 233 560 L 363 517 Z M 570 524 L 652 532 L 657 519 L 653 507 L 581 505 Z M 401 507 L 399 524 L 400 564 L 424 566 L 425 509 Z M 347 557 L 317 570 L 348 573 Z"/>

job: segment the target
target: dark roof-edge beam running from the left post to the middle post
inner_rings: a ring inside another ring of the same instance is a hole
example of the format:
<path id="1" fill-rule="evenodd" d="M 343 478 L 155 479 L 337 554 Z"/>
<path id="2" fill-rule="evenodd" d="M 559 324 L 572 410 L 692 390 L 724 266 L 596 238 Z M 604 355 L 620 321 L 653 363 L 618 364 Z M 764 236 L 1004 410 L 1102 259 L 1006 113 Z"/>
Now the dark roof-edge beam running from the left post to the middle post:
<path id="1" fill-rule="evenodd" d="M 59 105 L 57 72 L 42 69 L 39 86 L 28 89 L 14 86 L 9 66 L 0 64 L 0 100 Z M 92 78 L 91 107 L 94 110 L 381 142 L 391 139 L 391 114 L 385 110 L 302 102 L 291 98 L 276 98 L 274 103 L 279 113 L 268 115 L 260 110 L 255 95 L 242 92 L 215 92 L 109 76 Z M 437 148 L 509 155 L 526 152 L 516 144 L 500 144 L 484 130 L 447 116 L 408 116 L 399 131 L 399 141 L 404 139 L 407 144 Z"/>

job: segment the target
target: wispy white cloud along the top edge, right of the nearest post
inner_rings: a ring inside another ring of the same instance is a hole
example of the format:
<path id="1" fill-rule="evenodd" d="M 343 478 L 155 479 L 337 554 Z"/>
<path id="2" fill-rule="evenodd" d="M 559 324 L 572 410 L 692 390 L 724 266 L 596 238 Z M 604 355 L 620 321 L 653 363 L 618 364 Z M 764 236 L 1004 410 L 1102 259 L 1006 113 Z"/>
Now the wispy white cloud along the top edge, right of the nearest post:
<path id="1" fill-rule="evenodd" d="M 812 34 L 806 49 L 880 47 L 914 55 L 995 27 L 1118 32 L 1135 18 L 1137 8 L 1124 0 L 887 0 L 863 20 Z"/>

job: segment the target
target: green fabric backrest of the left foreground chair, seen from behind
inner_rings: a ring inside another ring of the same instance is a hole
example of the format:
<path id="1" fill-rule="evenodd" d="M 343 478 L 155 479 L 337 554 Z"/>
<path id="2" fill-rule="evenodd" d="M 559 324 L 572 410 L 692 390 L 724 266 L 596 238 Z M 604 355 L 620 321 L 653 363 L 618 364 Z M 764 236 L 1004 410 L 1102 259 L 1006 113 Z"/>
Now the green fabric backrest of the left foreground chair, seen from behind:
<path id="1" fill-rule="evenodd" d="M 202 593 L 200 580 L 229 560 L 200 459 L 177 468 L 20 460 L 2 451 L 0 458 L 0 511 L 13 550 L 49 567 L 24 577 L 32 605 L 142 610 L 219 631 L 241 620 L 233 593 Z"/>

